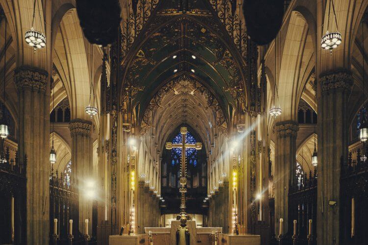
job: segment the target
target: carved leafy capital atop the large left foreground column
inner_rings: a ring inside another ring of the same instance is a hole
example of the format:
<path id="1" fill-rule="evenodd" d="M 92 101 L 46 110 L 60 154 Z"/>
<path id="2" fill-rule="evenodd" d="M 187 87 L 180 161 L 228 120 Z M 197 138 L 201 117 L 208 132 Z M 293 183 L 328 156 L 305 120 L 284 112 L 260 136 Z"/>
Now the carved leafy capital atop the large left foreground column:
<path id="1" fill-rule="evenodd" d="M 45 92 L 48 76 L 49 73 L 45 70 L 20 66 L 14 71 L 15 86 L 18 91 L 27 89 Z"/>

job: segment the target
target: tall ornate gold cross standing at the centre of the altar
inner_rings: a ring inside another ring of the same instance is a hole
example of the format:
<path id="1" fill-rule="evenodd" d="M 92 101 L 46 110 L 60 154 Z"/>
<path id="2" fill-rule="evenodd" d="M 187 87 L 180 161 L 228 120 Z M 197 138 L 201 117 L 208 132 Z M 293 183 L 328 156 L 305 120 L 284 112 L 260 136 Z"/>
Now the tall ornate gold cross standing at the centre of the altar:
<path id="1" fill-rule="evenodd" d="M 202 149 L 202 143 L 195 144 L 186 144 L 185 136 L 188 132 L 186 127 L 180 128 L 180 133 L 182 134 L 182 144 L 173 144 L 171 142 L 166 142 L 166 149 L 171 150 L 172 148 L 182 148 L 182 163 L 180 167 L 180 193 L 181 195 L 181 204 L 180 204 L 180 217 L 187 217 L 185 213 L 185 193 L 186 193 L 186 165 L 185 165 L 185 149 L 186 148 L 195 148 L 196 150 Z M 178 218 L 180 218 L 178 217 Z"/>

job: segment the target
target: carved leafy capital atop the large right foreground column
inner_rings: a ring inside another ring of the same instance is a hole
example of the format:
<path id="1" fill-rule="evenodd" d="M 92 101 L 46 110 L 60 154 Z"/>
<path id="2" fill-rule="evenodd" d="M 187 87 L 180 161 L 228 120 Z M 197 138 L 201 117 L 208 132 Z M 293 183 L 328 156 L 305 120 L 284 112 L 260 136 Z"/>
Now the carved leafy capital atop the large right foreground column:
<path id="1" fill-rule="evenodd" d="M 327 94 L 333 90 L 350 90 L 353 85 L 353 76 L 348 70 L 338 70 L 319 75 L 322 87 L 322 94 Z"/>

